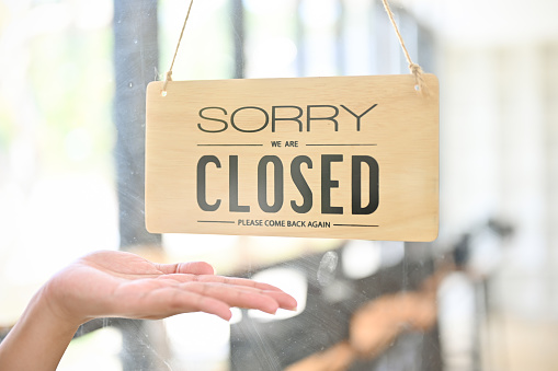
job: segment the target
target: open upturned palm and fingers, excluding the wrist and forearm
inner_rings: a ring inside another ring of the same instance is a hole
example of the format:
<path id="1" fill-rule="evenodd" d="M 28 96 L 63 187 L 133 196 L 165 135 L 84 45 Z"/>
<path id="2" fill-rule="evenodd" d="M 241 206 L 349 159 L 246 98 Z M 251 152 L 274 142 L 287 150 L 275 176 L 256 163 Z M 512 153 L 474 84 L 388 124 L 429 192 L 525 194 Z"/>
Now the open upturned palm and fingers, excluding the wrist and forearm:
<path id="1" fill-rule="evenodd" d="M 50 310 L 66 321 L 94 317 L 163 318 L 206 312 L 230 320 L 230 306 L 275 313 L 296 301 L 280 289 L 214 275 L 207 263 L 156 264 L 124 252 L 87 255 L 43 288 Z"/>

